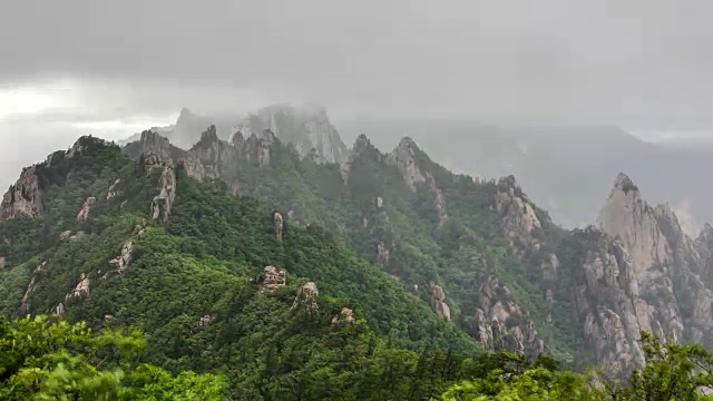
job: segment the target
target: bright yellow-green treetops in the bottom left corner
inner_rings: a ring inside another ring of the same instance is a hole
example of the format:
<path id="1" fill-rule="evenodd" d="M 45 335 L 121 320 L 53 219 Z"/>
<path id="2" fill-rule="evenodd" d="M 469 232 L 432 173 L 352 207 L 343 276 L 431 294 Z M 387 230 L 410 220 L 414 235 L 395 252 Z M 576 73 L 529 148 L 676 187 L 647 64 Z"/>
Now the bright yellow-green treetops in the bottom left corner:
<path id="1" fill-rule="evenodd" d="M 183 372 L 177 378 L 136 363 L 146 349 L 138 332 L 94 333 L 40 315 L 0 320 L 2 400 L 223 400 L 222 376 Z"/>

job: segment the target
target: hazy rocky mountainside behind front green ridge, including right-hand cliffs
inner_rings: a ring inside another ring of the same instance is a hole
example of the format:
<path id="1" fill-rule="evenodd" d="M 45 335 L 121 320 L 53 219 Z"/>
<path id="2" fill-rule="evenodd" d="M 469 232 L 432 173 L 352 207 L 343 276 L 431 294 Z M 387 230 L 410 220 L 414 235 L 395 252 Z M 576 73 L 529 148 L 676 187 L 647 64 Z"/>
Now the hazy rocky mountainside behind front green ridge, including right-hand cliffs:
<path id="1" fill-rule="evenodd" d="M 361 135 L 336 166 L 302 157 L 268 129 L 226 143 L 209 128 L 175 157 L 293 225 L 325 227 L 486 350 L 627 372 L 644 358 L 641 330 L 709 342 L 706 237 L 692 242 L 628 177 L 617 177 L 600 228 L 566 232 L 514 177 L 452 174 L 408 137 L 382 154 Z"/>

